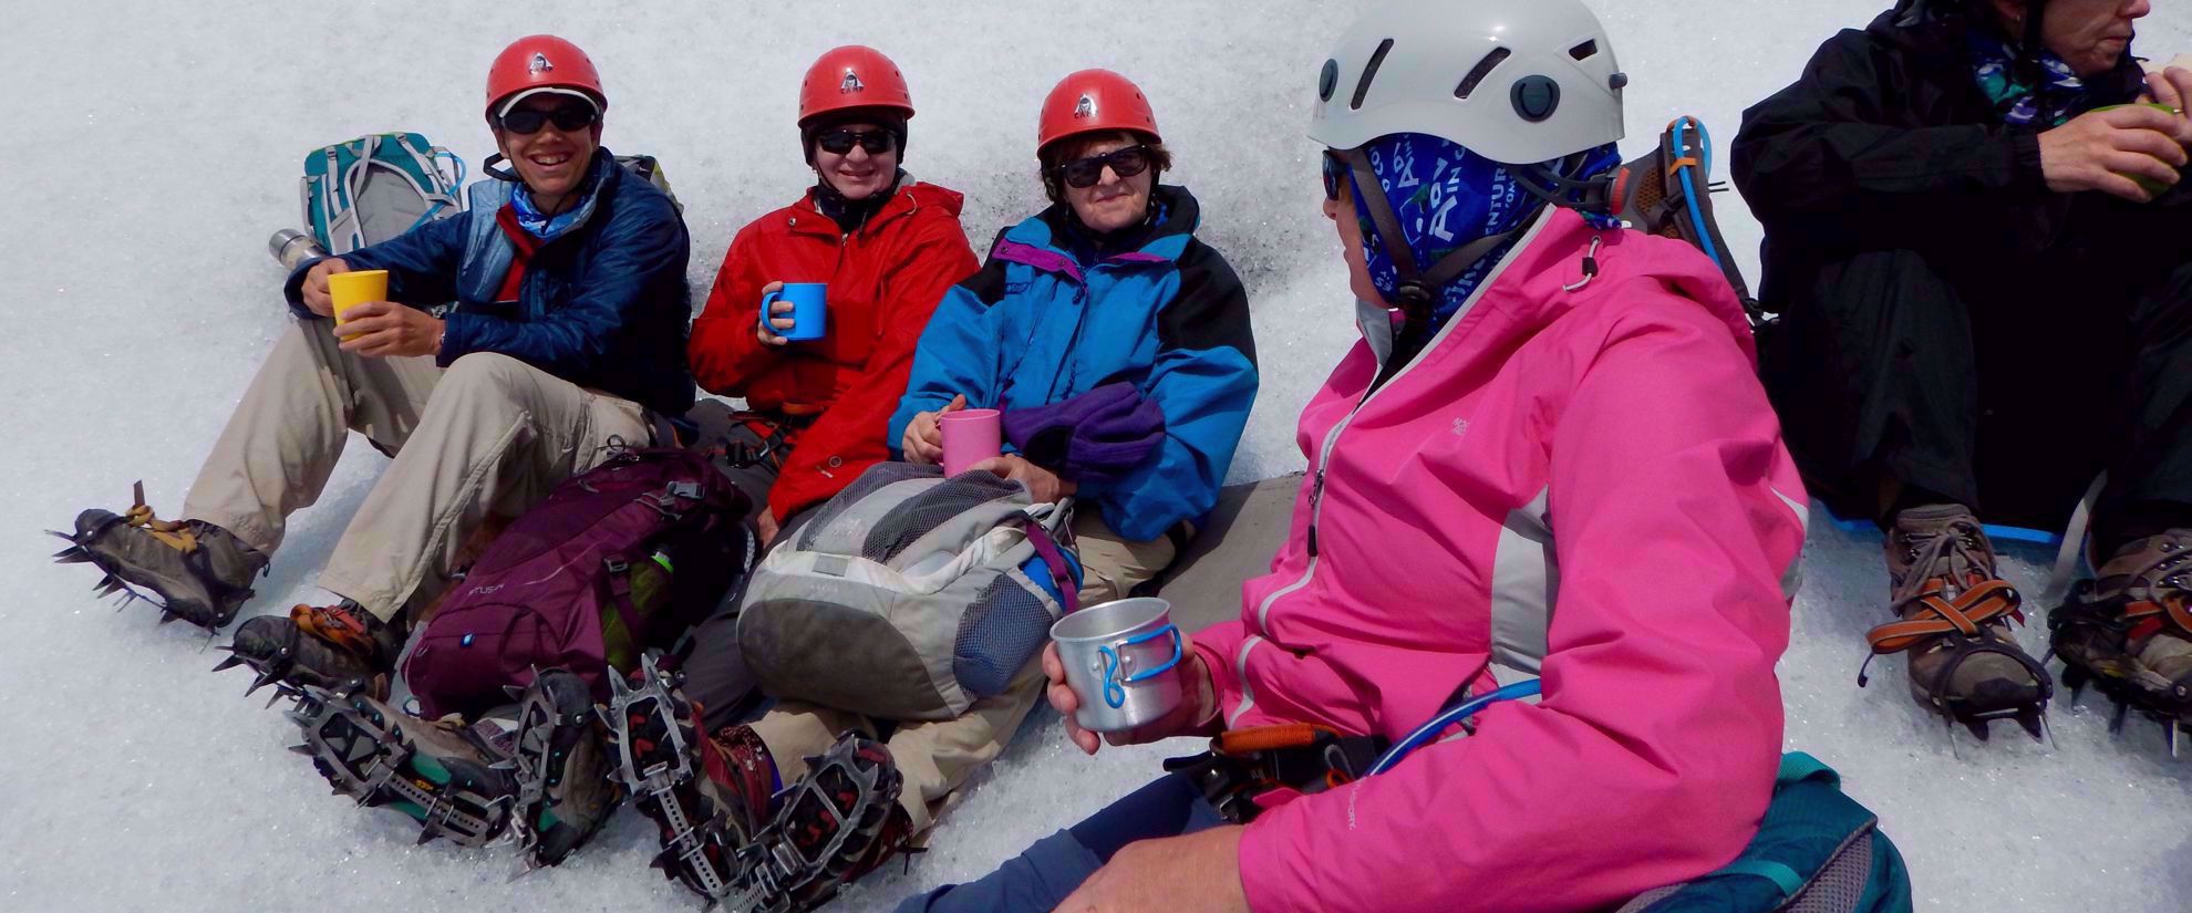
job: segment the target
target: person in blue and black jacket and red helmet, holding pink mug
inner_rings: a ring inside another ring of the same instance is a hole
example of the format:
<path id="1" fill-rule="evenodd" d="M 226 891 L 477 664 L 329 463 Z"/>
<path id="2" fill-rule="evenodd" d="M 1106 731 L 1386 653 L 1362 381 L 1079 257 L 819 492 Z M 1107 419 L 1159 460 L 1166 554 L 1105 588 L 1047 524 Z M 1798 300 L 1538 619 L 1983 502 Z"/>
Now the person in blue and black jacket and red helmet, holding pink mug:
<path id="1" fill-rule="evenodd" d="M 1195 197 L 1157 184 L 1171 153 L 1131 81 L 1059 81 L 1037 155 L 1052 206 L 945 293 L 890 440 L 940 462 L 940 414 L 1002 409 L 1008 453 L 973 469 L 1039 501 L 1074 495 L 1094 604 L 1162 574 L 1217 504 L 1256 401 L 1256 339 L 1241 278 L 1195 239 Z"/>

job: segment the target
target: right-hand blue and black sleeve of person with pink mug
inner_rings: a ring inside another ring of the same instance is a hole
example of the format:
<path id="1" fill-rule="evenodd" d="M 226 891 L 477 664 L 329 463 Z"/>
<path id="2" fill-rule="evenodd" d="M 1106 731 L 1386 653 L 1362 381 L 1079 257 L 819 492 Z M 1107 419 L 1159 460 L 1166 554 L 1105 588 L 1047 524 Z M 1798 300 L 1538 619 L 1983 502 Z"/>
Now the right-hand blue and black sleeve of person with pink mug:
<path id="1" fill-rule="evenodd" d="M 1179 254 L 1179 291 L 1157 311 L 1157 361 L 1144 396 L 1164 409 L 1164 442 L 1118 482 L 1081 486 L 1120 539 L 1151 541 L 1219 504 L 1219 486 L 1256 403 L 1247 291 L 1201 241 Z"/>

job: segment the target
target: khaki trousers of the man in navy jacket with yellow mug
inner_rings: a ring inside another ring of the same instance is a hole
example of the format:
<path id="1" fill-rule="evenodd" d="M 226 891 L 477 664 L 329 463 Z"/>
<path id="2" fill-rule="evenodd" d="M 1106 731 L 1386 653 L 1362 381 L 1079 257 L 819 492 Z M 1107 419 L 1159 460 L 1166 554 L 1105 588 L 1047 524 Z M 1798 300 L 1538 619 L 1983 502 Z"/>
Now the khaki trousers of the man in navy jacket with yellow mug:
<path id="1" fill-rule="evenodd" d="M 267 556 L 285 521 L 327 488 L 349 431 L 395 462 L 335 543 L 320 587 L 381 620 L 441 593 L 493 512 L 517 517 L 601 462 L 607 440 L 649 442 L 638 403 L 583 390 L 495 353 L 373 359 L 324 320 L 294 322 L 259 366 L 191 484 L 184 519 Z"/>

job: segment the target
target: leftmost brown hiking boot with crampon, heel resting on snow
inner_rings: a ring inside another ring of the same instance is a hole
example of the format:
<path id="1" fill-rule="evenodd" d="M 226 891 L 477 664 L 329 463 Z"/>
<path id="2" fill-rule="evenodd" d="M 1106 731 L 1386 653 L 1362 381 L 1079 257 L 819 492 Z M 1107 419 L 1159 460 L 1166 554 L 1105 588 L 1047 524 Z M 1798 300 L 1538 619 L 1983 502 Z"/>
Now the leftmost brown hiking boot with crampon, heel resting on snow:
<path id="1" fill-rule="evenodd" d="M 145 598 L 160 606 L 160 624 L 184 620 L 206 631 L 219 631 L 237 617 L 252 598 L 252 578 L 267 567 L 267 556 L 243 545 L 219 525 L 186 519 L 164 521 L 145 506 L 145 484 L 134 486 L 136 504 L 127 512 L 85 510 L 77 515 L 77 532 L 55 532 L 70 547 L 53 558 L 64 565 L 92 563 L 107 571 L 99 596 L 145 587 L 158 596 Z"/>

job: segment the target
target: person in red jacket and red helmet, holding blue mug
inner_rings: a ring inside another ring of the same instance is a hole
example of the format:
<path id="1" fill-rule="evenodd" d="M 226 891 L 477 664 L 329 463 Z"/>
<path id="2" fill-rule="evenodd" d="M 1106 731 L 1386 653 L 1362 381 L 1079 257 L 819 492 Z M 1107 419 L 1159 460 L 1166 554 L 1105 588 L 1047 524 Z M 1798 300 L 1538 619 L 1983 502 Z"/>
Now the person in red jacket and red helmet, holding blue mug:
<path id="1" fill-rule="evenodd" d="M 888 460 L 883 431 L 905 394 L 914 344 L 936 302 L 980 263 L 960 228 L 956 190 L 899 169 L 912 94 L 875 48 L 824 53 L 800 83 L 800 147 L 815 186 L 754 219 L 730 241 L 693 322 L 686 350 L 701 390 L 743 396 L 728 444 L 739 488 L 756 501 L 763 543 L 778 523 L 820 506 Z M 787 302 L 761 324 L 761 296 L 787 282 L 826 282 L 829 333 L 789 342 Z M 695 631 L 686 694 L 708 729 L 730 723 L 752 692 L 737 617 Z"/>

